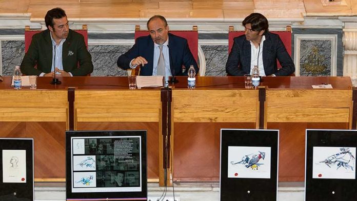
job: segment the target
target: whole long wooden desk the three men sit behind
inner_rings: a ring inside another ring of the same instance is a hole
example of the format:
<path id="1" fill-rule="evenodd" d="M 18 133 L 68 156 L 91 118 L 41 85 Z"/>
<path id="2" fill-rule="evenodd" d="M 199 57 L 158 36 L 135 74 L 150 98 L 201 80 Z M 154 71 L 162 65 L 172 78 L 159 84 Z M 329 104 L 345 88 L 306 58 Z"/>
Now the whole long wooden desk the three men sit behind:
<path id="1" fill-rule="evenodd" d="M 33 137 L 35 178 L 53 181 L 65 178 L 66 130 L 145 129 L 148 178 L 163 184 L 162 134 L 173 180 L 218 181 L 221 128 L 280 129 L 283 182 L 304 180 L 306 128 L 356 127 L 349 77 L 264 77 L 259 90 L 245 89 L 243 77 L 197 77 L 192 90 L 177 79 L 170 89 L 129 90 L 127 77 L 63 77 L 57 86 L 39 77 L 37 90 L 14 90 L 4 77 L 1 137 Z M 333 89 L 311 88 L 321 83 Z"/>

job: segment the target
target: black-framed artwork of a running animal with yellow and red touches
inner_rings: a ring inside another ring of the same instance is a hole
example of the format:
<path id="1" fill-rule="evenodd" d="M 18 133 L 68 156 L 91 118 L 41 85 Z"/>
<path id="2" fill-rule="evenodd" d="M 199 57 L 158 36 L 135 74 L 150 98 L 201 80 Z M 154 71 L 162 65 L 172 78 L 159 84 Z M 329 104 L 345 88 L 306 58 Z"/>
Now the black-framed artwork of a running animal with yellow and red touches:
<path id="1" fill-rule="evenodd" d="M 277 130 L 221 129 L 220 200 L 277 200 L 278 153 Z"/>

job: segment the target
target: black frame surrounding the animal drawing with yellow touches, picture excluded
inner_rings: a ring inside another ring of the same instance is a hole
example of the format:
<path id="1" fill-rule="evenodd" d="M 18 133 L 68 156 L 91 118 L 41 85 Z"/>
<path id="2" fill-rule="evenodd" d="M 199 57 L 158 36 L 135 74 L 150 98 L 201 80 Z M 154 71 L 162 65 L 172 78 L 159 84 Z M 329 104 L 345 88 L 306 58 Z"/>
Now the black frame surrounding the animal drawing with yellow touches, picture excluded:
<path id="1" fill-rule="evenodd" d="M 270 147 L 270 178 L 228 177 L 228 147 Z M 277 200 L 279 130 L 221 129 L 220 200 Z"/>

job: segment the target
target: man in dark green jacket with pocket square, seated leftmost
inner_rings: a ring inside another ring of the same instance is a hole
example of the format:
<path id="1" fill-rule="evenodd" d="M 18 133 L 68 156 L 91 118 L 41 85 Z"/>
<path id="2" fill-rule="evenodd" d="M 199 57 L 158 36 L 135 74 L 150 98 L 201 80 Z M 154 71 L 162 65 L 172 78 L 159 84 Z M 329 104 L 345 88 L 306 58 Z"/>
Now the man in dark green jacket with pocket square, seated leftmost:
<path id="1" fill-rule="evenodd" d="M 92 57 L 82 34 L 68 27 L 65 11 L 49 10 L 45 16 L 47 30 L 33 35 L 21 63 L 26 75 L 85 76 L 93 72 Z M 36 66 L 37 65 L 37 66 Z"/>

